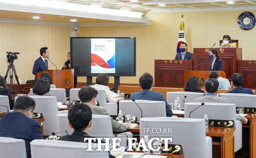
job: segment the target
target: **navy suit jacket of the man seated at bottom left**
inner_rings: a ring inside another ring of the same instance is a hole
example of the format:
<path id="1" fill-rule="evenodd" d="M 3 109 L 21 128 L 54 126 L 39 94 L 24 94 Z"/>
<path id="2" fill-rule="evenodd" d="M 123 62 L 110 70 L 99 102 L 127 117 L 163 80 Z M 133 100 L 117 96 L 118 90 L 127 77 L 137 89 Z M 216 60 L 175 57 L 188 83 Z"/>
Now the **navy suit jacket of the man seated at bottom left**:
<path id="1" fill-rule="evenodd" d="M 25 141 L 27 157 L 31 152 L 30 142 L 34 139 L 44 139 L 39 122 L 19 112 L 7 113 L 2 116 L 0 127 L 0 136 Z"/>

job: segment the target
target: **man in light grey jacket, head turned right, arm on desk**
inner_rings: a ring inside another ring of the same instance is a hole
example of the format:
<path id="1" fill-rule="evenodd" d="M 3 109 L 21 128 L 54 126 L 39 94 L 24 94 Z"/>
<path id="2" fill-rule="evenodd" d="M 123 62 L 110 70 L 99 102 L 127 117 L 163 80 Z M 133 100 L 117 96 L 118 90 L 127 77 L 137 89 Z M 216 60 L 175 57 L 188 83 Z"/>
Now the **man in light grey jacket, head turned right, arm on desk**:
<path id="1" fill-rule="evenodd" d="M 90 109 L 92 110 L 92 114 L 110 116 L 105 107 L 96 106 L 97 95 L 98 91 L 90 86 L 83 86 L 80 89 L 80 91 L 78 91 L 78 97 L 80 101 L 90 107 Z M 119 123 L 116 120 L 113 120 L 112 118 L 111 124 L 114 132 L 123 132 L 127 130 L 127 127 L 129 127 L 128 125 Z"/>

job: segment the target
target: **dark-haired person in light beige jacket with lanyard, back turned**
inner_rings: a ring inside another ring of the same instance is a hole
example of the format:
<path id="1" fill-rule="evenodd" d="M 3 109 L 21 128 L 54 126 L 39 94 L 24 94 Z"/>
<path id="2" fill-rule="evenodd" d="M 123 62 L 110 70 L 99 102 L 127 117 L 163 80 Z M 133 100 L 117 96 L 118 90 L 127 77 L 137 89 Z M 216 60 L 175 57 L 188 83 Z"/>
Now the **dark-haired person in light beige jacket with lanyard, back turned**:
<path id="1" fill-rule="evenodd" d="M 209 78 L 204 83 L 205 94 L 203 97 L 199 97 L 193 100 L 195 103 L 228 103 L 228 99 L 215 96 L 218 91 L 219 82 L 216 79 Z M 242 121 L 244 124 L 247 123 L 247 119 L 243 116 L 236 115 L 236 120 Z"/>

